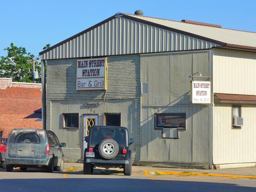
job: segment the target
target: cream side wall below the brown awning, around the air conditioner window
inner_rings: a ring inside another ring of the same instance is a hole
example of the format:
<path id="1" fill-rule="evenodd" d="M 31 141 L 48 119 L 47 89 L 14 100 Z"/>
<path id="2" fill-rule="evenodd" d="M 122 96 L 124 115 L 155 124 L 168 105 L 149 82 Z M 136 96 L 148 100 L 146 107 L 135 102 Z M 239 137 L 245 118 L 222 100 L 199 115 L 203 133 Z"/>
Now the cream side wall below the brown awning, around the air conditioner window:
<path id="1" fill-rule="evenodd" d="M 231 129 L 231 105 L 213 106 L 213 164 L 256 162 L 256 106 L 241 112 L 242 129 Z"/>

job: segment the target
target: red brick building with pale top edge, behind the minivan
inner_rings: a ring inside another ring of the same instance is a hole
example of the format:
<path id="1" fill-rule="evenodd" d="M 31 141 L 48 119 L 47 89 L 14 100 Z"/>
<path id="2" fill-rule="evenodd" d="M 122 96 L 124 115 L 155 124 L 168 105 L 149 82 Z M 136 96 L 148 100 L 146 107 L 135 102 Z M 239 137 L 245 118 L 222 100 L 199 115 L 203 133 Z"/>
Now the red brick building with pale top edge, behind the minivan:
<path id="1" fill-rule="evenodd" d="M 42 107 L 41 84 L 12 82 L 0 78 L 0 128 L 7 138 L 14 128 L 42 128 L 42 121 L 24 119 Z"/>

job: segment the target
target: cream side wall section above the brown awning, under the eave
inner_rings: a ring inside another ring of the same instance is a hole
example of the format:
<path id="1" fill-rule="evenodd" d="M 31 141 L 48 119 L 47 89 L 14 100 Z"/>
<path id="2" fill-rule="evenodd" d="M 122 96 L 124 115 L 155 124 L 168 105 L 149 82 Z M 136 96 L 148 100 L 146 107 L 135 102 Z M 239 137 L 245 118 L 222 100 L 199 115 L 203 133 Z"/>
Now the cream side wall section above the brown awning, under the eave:
<path id="1" fill-rule="evenodd" d="M 256 53 L 213 49 L 213 92 L 256 95 Z"/>

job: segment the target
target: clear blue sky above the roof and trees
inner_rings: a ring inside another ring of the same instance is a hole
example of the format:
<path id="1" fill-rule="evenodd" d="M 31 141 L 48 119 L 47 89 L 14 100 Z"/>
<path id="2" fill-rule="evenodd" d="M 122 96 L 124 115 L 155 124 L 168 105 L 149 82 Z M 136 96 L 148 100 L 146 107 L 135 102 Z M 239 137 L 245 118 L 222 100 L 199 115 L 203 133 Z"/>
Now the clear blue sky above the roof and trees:
<path id="1" fill-rule="evenodd" d="M 193 20 L 256 32 L 256 0 L 78 1 L 0 0 L 0 56 L 14 43 L 38 55 L 116 12 L 143 10 L 144 16 Z"/>

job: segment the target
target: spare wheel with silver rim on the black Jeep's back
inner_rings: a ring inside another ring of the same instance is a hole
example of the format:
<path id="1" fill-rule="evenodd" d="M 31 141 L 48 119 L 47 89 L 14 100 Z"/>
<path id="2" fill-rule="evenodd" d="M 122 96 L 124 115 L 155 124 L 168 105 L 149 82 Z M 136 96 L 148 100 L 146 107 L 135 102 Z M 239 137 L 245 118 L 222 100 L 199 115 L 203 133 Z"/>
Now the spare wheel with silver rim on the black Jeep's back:
<path id="1" fill-rule="evenodd" d="M 119 152 L 118 143 L 113 139 L 104 139 L 100 142 L 99 153 L 105 159 L 114 158 Z"/>

